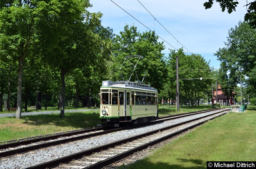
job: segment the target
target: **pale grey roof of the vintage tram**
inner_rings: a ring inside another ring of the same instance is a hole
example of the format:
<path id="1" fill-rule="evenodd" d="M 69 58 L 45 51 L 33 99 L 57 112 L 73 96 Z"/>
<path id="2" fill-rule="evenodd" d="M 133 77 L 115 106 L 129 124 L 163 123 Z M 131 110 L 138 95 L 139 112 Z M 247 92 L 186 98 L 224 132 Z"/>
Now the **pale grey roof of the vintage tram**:
<path id="1" fill-rule="evenodd" d="M 157 92 L 157 89 L 151 87 L 151 85 L 145 85 L 145 84 L 139 84 L 135 82 L 128 82 L 128 81 L 117 81 L 113 82 L 110 80 L 102 81 L 101 87 L 131 87 L 131 88 L 137 88 L 137 89 L 145 89 L 145 90 L 151 90 Z"/>

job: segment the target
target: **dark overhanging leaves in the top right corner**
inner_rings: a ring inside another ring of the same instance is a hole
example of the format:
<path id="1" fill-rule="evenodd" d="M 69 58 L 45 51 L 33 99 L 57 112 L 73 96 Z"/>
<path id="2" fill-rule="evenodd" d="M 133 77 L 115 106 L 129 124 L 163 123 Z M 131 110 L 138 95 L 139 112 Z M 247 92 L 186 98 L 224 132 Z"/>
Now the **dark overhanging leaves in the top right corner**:
<path id="1" fill-rule="evenodd" d="M 208 2 L 204 3 L 205 9 L 209 9 L 212 7 L 214 0 L 208 0 Z M 216 2 L 220 3 L 221 11 L 224 12 L 226 9 L 228 10 L 228 13 L 231 13 L 233 11 L 236 11 L 236 7 L 238 3 L 238 0 L 215 0 Z M 247 13 L 244 15 L 244 21 L 248 21 L 249 24 L 256 28 L 256 1 L 249 2 L 246 1 L 246 4 L 244 6 L 248 7 Z"/>

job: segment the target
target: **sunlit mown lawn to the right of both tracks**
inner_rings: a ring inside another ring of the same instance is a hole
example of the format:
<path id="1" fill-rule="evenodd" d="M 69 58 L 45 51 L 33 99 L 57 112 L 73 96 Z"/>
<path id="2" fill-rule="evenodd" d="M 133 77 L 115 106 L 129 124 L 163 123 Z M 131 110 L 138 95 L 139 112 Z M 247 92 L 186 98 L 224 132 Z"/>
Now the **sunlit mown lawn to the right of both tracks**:
<path id="1" fill-rule="evenodd" d="M 192 130 L 127 169 L 206 168 L 207 161 L 255 161 L 256 108 L 229 113 Z"/>

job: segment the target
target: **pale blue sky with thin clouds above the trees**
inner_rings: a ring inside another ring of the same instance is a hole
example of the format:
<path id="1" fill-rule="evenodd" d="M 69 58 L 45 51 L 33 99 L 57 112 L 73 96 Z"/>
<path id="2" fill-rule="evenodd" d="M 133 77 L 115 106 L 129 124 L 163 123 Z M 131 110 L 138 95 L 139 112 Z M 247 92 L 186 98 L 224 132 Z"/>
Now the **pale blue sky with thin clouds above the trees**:
<path id="1" fill-rule="evenodd" d="M 139 20 L 138 22 L 136 19 Z M 220 62 L 214 53 L 219 48 L 225 47 L 228 30 L 238 25 L 239 20 L 244 20 L 246 13 L 245 0 L 239 1 L 236 11 L 228 14 L 222 12 L 218 3 L 214 3 L 211 9 L 205 10 L 203 4 L 207 0 L 90 0 L 93 5 L 88 8 L 90 12 L 101 12 L 101 25 L 109 26 L 115 34 L 124 30 L 124 26 L 134 25 L 140 33 L 155 30 L 156 34 L 164 39 L 165 56 L 170 49 L 183 47 L 188 54 L 200 54 L 215 69 L 220 68 Z M 160 22 L 168 32 L 152 17 Z M 171 34 L 172 35 L 171 35 Z M 174 38 L 175 39 L 174 39 Z M 158 41 L 162 42 L 159 38 Z M 179 42 L 177 42 L 177 40 Z M 182 45 L 181 45 L 182 44 Z M 187 49 L 186 49 L 187 48 Z"/>

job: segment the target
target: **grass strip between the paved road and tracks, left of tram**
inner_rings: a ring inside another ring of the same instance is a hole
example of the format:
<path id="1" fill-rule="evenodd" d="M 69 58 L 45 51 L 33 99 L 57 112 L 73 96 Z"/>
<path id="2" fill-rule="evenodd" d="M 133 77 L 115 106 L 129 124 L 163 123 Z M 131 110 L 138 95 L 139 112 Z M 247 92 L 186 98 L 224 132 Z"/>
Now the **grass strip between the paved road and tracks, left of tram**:
<path id="1" fill-rule="evenodd" d="M 16 140 L 25 137 L 39 136 L 56 132 L 88 128 L 100 123 L 99 109 L 88 112 L 60 114 L 40 114 L 0 118 L 0 141 Z"/>

